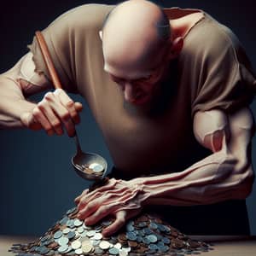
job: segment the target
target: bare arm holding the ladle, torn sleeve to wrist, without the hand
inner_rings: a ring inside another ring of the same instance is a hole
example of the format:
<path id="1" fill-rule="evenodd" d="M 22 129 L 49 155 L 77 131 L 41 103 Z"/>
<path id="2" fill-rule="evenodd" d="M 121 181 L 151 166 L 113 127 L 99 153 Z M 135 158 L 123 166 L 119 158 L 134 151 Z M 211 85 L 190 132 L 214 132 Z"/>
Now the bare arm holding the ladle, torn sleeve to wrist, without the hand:
<path id="1" fill-rule="evenodd" d="M 44 74 L 35 73 L 34 68 L 32 53 L 27 53 L 15 64 L 15 67 L 0 75 L 1 128 L 24 127 L 20 116 L 22 113 L 32 112 L 37 105 L 27 101 L 26 96 L 47 90 L 52 86 Z"/>

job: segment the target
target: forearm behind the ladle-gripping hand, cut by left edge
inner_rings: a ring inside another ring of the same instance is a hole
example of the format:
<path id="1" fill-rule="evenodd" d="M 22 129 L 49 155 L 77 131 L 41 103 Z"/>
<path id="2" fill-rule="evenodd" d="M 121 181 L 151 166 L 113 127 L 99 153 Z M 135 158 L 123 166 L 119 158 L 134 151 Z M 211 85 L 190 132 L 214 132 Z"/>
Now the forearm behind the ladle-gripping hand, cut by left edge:
<path id="1" fill-rule="evenodd" d="M 8 77 L 0 77 L 0 128 L 23 127 L 20 115 L 31 112 L 36 104 L 26 101 L 20 85 Z"/>

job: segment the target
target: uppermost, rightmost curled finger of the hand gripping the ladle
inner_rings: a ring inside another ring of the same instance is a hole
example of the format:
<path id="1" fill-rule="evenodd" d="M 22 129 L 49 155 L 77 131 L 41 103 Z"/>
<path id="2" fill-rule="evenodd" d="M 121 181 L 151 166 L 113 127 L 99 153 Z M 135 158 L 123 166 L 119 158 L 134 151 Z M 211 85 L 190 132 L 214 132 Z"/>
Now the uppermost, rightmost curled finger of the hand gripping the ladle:
<path id="1" fill-rule="evenodd" d="M 74 124 L 79 124 L 80 117 L 77 109 L 75 108 L 75 103 L 73 100 L 67 95 L 64 90 L 56 89 L 54 92 L 55 96 L 57 96 L 61 102 L 61 104 L 67 108 L 71 118 L 73 119 Z"/>

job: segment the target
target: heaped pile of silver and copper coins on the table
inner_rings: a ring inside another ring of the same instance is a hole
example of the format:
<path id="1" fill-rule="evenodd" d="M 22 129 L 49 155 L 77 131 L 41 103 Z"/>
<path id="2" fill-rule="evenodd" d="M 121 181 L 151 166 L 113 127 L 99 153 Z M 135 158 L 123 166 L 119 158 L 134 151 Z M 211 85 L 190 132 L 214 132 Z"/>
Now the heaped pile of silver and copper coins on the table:
<path id="1" fill-rule="evenodd" d="M 113 223 L 108 218 L 86 226 L 76 218 L 77 207 L 69 209 L 45 234 L 28 244 L 15 244 L 9 251 L 29 255 L 171 255 L 199 254 L 212 250 L 203 241 L 193 241 L 153 215 L 142 214 L 127 222 L 115 236 L 103 237 Z"/>

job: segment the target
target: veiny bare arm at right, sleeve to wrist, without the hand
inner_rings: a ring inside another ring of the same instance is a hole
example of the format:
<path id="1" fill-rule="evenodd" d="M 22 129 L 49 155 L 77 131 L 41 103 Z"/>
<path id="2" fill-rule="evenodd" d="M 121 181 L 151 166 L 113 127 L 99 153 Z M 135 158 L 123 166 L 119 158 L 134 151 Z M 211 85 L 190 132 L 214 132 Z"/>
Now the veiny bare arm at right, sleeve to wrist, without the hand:
<path id="1" fill-rule="evenodd" d="M 249 109 L 229 115 L 219 110 L 198 112 L 194 132 L 212 154 L 183 172 L 146 178 L 142 182 L 146 204 L 210 204 L 244 199 L 251 193 L 254 124 Z"/>

